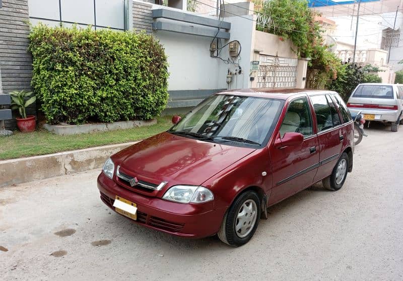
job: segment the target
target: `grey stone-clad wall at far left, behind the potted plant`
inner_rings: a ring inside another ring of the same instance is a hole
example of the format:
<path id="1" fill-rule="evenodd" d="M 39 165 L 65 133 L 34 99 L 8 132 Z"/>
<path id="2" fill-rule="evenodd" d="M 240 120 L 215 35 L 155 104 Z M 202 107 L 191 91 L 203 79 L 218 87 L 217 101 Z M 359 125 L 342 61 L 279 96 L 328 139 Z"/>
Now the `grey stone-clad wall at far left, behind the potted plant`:
<path id="1" fill-rule="evenodd" d="M 32 57 L 27 51 L 29 40 L 28 0 L 3 0 L 0 8 L 0 68 L 3 91 L 31 90 Z M 35 115 L 35 105 L 27 109 Z M 16 112 L 13 112 L 13 118 Z M 16 121 L 7 120 L 7 129 L 16 128 Z"/>

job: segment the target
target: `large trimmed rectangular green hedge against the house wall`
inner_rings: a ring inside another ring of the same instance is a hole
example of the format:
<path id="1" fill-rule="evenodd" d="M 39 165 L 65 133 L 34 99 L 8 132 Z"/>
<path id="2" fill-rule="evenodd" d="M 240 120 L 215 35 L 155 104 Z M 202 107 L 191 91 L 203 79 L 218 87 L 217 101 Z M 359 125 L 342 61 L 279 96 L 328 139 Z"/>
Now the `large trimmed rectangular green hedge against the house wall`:
<path id="1" fill-rule="evenodd" d="M 165 109 L 167 57 L 151 35 L 38 25 L 29 39 L 48 123 L 147 120 Z"/>

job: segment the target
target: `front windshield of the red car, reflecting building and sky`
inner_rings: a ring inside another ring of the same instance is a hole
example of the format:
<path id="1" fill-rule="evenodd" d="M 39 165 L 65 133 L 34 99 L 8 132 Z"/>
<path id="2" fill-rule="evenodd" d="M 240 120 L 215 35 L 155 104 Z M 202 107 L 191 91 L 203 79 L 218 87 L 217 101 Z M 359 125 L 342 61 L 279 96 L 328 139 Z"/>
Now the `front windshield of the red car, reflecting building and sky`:
<path id="1" fill-rule="evenodd" d="M 213 95 L 169 132 L 214 142 L 261 145 L 273 130 L 282 104 L 274 99 Z"/>

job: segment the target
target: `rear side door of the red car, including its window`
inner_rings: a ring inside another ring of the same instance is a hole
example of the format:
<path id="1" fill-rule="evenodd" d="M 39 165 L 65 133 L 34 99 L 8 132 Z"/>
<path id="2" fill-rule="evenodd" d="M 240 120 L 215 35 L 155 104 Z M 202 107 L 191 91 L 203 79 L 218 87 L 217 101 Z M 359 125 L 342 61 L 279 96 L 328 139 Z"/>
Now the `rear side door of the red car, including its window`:
<path id="1" fill-rule="evenodd" d="M 329 95 L 309 97 L 315 111 L 319 162 L 314 182 L 331 174 L 343 146 L 344 129 L 337 106 Z"/>

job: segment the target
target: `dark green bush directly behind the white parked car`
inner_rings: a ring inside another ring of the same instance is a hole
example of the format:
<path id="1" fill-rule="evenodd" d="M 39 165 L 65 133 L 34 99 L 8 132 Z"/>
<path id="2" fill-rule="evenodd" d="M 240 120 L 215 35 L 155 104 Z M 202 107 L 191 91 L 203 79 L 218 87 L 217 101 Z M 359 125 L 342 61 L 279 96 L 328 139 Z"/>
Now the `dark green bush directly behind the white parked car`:
<path id="1" fill-rule="evenodd" d="M 367 73 L 368 69 L 373 69 L 373 66 L 358 66 L 355 63 L 345 63 L 339 69 L 337 78 L 332 79 L 327 88 L 337 91 L 340 96 L 347 102 L 353 90 L 360 83 L 380 83 L 381 77 L 373 73 Z"/>

